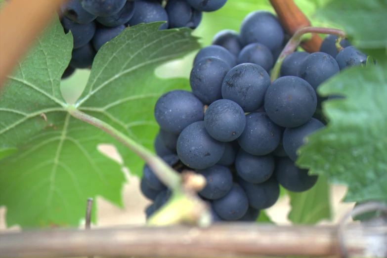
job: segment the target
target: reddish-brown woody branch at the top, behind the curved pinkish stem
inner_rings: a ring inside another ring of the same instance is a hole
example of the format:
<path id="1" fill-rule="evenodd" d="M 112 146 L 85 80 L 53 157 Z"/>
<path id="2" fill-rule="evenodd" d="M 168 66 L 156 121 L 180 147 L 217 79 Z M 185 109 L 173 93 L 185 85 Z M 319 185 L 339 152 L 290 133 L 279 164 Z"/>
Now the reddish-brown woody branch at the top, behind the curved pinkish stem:
<path id="1" fill-rule="evenodd" d="M 308 18 L 303 14 L 300 8 L 294 3 L 294 0 L 270 0 L 275 12 L 278 15 L 282 27 L 293 36 L 298 30 L 311 26 Z M 312 34 L 312 38 L 301 43 L 301 47 L 309 52 L 320 51 L 322 39 L 318 34 Z"/>

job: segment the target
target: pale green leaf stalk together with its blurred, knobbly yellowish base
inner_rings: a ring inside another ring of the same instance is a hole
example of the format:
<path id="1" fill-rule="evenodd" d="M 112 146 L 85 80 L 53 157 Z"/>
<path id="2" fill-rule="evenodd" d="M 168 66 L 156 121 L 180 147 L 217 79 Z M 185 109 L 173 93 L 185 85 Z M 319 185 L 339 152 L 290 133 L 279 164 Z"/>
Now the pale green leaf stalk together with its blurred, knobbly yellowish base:
<path id="1" fill-rule="evenodd" d="M 142 158 L 156 176 L 173 190 L 171 200 L 163 206 L 163 209 L 150 217 L 149 225 L 160 226 L 189 222 L 197 223 L 199 226 L 208 226 L 211 223 L 211 218 L 208 219 L 210 216 L 208 206 L 197 197 L 195 192 L 206 184 L 202 175 L 187 172 L 182 177 L 160 157 L 109 124 L 78 110 L 75 106 L 69 106 L 68 112 L 73 117 L 102 129 L 123 143 Z"/>

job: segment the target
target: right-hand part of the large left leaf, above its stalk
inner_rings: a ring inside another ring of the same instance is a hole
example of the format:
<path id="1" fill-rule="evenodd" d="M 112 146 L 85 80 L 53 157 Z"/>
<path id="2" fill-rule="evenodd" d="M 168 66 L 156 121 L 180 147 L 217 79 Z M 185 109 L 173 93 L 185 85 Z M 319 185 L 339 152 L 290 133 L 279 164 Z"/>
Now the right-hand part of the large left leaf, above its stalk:
<path id="1" fill-rule="evenodd" d="M 189 89 L 186 79 L 161 80 L 154 70 L 163 62 L 200 47 L 187 28 L 158 31 L 160 22 L 140 24 L 105 44 L 94 59 L 90 78 L 76 106 L 153 148 L 158 131 L 153 109 L 171 89 Z M 120 47 L 118 47 L 120 46 Z M 131 172 L 141 174 L 142 161 L 119 145 Z"/>

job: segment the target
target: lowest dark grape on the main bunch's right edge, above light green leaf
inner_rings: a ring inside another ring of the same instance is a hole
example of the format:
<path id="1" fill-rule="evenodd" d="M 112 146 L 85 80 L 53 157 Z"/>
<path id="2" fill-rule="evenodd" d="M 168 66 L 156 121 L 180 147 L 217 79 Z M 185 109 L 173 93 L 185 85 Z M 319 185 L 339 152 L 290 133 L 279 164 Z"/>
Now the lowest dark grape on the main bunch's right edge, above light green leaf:
<path id="1" fill-rule="evenodd" d="M 279 158 L 275 164 L 275 177 L 286 190 L 303 192 L 309 190 L 317 182 L 317 175 L 308 175 L 307 170 L 297 168 L 287 157 Z"/>

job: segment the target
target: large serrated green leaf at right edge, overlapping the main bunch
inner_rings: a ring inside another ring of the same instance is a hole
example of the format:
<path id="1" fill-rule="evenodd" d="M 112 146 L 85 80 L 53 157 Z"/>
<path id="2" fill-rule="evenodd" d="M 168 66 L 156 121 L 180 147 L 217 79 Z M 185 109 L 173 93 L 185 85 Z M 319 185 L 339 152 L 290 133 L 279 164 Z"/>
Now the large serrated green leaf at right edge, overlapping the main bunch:
<path id="1" fill-rule="evenodd" d="M 387 200 L 386 67 L 345 69 L 318 91 L 346 98 L 323 103 L 330 123 L 307 137 L 298 165 L 347 184 L 345 201 Z"/>

